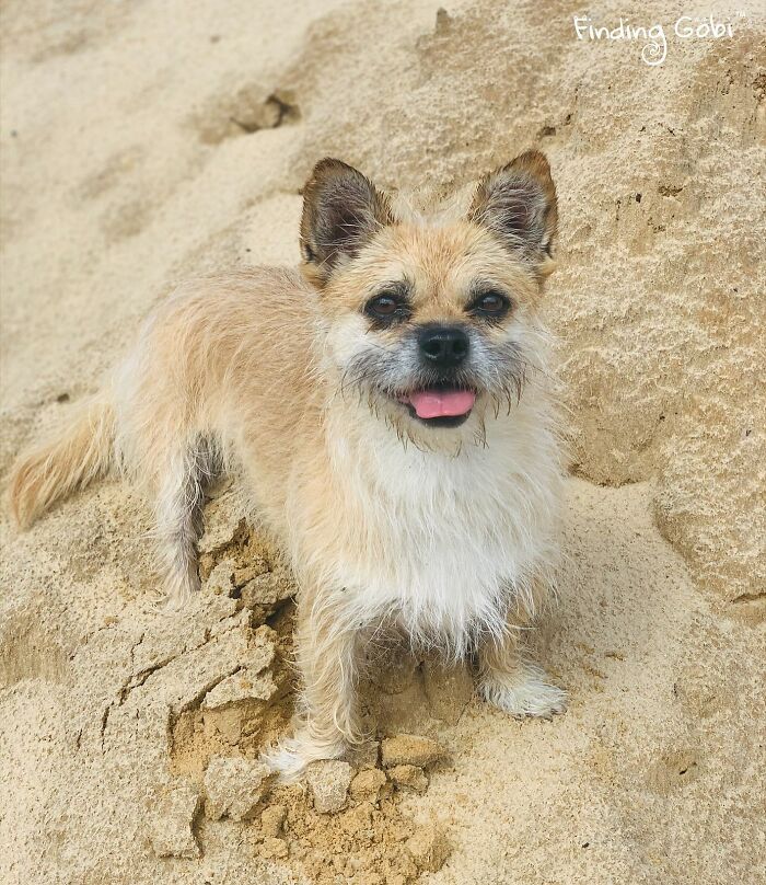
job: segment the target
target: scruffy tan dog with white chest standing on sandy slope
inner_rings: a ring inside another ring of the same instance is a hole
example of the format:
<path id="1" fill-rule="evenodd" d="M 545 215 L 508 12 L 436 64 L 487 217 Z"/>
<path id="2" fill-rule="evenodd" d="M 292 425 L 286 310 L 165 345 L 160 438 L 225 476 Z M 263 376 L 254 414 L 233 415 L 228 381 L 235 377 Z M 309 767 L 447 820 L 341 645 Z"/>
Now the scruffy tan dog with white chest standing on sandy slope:
<path id="1" fill-rule="evenodd" d="M 391 624 L 478 662 L 489 702 L 565 706 L 523 655 L 550 584 L 562 463 L 537 319 L 556 192 L 529 151 L 423 215 L 338 160 L 306 184 L 300 271 L 183 286 L 80 416 L 15 468 L 28 525 L 109 468 L 153 503 L 161 570 L 198 586 L 206 481 L 244 472 L 299 585 L 286 774 L 362 740 L 356 647 Z"/>

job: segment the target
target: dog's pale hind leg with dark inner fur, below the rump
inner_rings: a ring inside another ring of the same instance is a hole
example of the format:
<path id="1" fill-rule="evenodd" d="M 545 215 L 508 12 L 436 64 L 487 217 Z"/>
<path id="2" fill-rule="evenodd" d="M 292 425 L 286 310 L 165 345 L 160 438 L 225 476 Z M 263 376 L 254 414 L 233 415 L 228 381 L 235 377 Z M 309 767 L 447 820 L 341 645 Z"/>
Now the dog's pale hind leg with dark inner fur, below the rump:
<path id="1" fill-rule="evenodd" d="M 216 472 L 210 444 L 196 437 L 163 459 L 154 502 L 159 572 L 173 608 L 199 588 L 197 541 L 202 530 L 205 487 Z"/>

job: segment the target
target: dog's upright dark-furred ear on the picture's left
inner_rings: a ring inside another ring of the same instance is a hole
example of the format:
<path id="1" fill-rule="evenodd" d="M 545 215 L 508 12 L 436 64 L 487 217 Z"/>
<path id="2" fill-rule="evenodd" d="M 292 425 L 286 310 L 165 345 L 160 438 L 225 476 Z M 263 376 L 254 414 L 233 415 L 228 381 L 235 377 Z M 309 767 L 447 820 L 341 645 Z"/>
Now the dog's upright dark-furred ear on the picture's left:
<path id="1" fill-rule="evenodd" d="M 314 285 L 324 286 L 338 265 L 392 221 L 387 196 L 369 179 L 340 160 L 321 160 L 303 188 L 304 273 Z"/>

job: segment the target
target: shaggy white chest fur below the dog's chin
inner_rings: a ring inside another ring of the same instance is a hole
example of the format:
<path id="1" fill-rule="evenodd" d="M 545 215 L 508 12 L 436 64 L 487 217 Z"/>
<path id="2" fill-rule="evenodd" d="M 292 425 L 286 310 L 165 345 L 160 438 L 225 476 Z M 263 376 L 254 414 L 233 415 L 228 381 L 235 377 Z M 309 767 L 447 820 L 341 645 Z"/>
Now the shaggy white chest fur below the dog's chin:
<path id="1" fill-rule="evenodd" d="M 462 654 L 555 555 L 561 476 L 545 411 L 491 421 L 460 455 L 404 447 L 371 421 L 332 452 L 343 502 L 332 577 L 360 620 L 393 617 Z"/>

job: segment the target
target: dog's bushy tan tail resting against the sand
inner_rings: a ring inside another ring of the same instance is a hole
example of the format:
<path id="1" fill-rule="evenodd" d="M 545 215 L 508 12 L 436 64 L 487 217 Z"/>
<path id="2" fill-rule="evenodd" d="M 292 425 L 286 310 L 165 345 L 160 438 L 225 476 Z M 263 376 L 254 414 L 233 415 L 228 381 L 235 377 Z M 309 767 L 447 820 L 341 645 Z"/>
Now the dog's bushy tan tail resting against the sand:
<path id="1" fill-rule="evenodd" d="M 11 473 L 11 513 L 23 528 L 55 502 L 103 476 L 114 459 L 115 414 L 104 394 L 46 441 L 24 452 Z"/>

